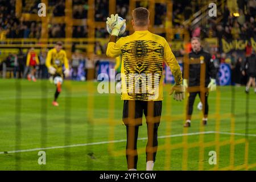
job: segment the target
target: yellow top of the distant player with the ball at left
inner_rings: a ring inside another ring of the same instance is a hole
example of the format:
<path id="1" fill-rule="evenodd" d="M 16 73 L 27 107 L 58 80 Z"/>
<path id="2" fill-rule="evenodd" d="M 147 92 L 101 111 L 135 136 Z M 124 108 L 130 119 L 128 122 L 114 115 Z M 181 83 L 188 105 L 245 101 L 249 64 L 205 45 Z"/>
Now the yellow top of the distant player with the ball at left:
<path id="1" fill-rule="evenodd" d="M 69 68 L 66 52 L 63 49 L 61 49 L 59 52 L 57 52 L 56 48 L 50 49 L 46 57 L 46 67 L 55 68 L 56 73 L 62 76 L 63 64 L 66 69 Z"/>

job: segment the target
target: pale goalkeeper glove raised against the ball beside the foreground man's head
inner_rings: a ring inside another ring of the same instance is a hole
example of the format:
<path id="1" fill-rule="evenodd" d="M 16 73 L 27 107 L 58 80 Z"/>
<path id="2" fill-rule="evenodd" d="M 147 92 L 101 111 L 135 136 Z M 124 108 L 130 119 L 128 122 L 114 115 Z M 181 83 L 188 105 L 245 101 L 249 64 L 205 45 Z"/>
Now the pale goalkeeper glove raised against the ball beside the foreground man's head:
<path id="1" fill-rule="evenodd" d="M 111 35 L 118 36 L 120 29 L 123 24 L 125 24 L 126 20 L 123 19 L 122 22 L 118 22 L 118 14 L 112 14 L 110 17 L 111 18 L 107 18 L 106 24 L 108 24 L 112 29 Z"/>

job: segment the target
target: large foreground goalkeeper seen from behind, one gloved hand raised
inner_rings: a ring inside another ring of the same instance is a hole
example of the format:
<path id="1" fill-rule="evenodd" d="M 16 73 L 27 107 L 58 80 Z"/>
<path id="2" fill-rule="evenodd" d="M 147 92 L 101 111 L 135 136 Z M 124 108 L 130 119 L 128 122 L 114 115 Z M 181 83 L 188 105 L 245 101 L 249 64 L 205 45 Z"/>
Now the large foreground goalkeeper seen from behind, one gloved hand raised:
<path id="1" fill-rule="evenodd" d="M 170 94 L 174 99 L 184 99 L 183 78 L 179 64 L 166 39 L 148 31 L 149 11 L 144 7 L 133 10 L 131 23 L 134 34 L 120 38 L 117 36 L 125 20 L 118 22 L 118 14 L 107 18 L 112 33 L 106 50 L 109 57 L 122 54 L 121 82 L 123 100 L 123 124 L 126 125 L 127 168 L 137 170 L 137 139 L 143 113 L 147 123 L 146 170 L 154 167 L 158 147 L 158 126 L 163 100 L 163 61 L 171 68 L 175 85 Z"/>

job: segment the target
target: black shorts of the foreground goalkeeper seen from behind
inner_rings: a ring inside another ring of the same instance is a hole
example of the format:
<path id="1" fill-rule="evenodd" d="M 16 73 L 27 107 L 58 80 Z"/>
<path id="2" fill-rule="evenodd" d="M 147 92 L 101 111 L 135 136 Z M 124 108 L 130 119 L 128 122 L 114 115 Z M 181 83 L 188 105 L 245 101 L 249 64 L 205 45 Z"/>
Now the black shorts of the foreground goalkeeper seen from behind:
<path id="1" fill-rule="evenodd" d="M 147 123 L 159 125 L 162 113 L 162 101 L 123 101 L 123 124 L 126 126 L 141 126 L 142 116 Z"/>

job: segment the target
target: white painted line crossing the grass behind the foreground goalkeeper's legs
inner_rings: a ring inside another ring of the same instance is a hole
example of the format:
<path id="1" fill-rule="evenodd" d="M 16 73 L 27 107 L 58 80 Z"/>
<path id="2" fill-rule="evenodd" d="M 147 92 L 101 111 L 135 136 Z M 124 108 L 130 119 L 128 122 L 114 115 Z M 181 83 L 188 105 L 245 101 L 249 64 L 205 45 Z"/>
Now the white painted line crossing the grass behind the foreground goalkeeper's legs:
<path id="1" fill-rule="evenodd" d="M 228 132 L 217 132 L 217 131 L 204 131 L 204 132 L 196 132 L 196 133 L 187 133 L 187 134 L 175 134 L 175 135 L 164 135 L 159 136 L 158 138 L 172 138 L 172 137 L 182 137 L 182 136 L 189 136 L 189 135 L 200 135 L 200 134 L 227 134 L 227 135 L 242 135 L 245 136 L 245 134 L 242 133 L 228 133 Z M 256 137 L 254 134 L 248 134 L 247 136 Z M 147 140 L 146 137 L 144 138 L 138 138 L 138 140 Z M 104 142 L 94 142 L 94 143 L 82 143 L 82 144 L 72 144 L 69 146 L 55 146 L 55 147 L 45 147 L 45 148 L 31 148 L 26 150 L 15 150 L 15 151 L 7 151 L 7 152 L 0 152 L 0 154 L 11 154 L 11 153 L 19 153 L 19 152 L 31 152 L 31 151 L 40 151 L 40 150 L 48 150 L 48 149 L 56 149 L 56 148 L 71 148 L 71 147 L 81 147 L 81 146 L 92 146 L 97 144 L 108 144 L 108 143 L 120 143 L 120 142 L 126 142 L 126 139 L 122 140 L 112 140 L 112 141 L 104 141 Z"/>

